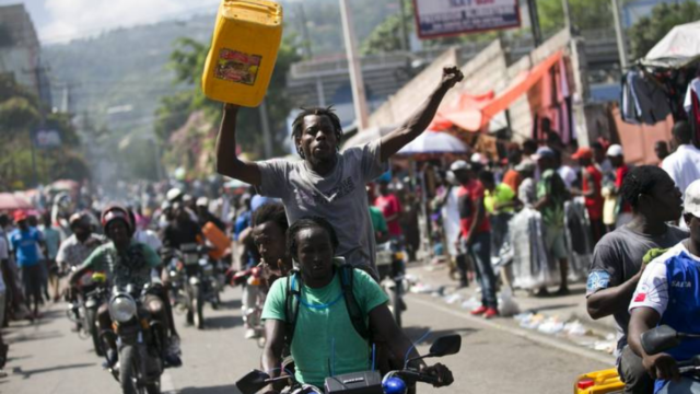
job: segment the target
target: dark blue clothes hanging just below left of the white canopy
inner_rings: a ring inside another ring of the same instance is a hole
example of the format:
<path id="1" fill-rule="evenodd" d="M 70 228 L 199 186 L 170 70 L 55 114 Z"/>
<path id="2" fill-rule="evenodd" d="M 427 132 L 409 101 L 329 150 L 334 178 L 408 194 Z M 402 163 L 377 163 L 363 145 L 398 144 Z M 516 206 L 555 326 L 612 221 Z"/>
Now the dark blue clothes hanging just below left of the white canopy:
<path id="1" fill-rule="evenodd" d="M 622 119 L 631 124 L 655 125 L 670 114 L 663 84 L 639 69 L 622 76 Z"/>

